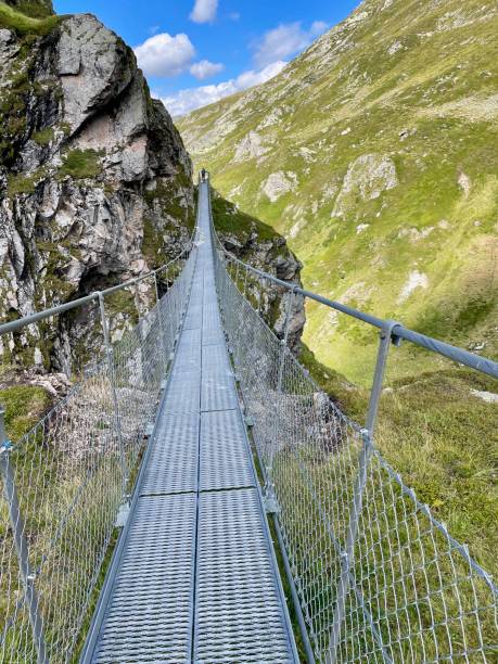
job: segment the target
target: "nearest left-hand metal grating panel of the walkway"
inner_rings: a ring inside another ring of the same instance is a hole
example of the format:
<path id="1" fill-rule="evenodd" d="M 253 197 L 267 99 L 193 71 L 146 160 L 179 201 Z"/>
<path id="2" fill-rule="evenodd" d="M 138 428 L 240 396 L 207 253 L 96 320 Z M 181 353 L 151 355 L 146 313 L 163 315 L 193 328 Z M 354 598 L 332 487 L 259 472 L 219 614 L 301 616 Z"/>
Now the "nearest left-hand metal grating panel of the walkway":
<path id="1" fill-rule="evenodd" d="M 195 495 L 140 498 L 93 662 L 190 662 Z"/>

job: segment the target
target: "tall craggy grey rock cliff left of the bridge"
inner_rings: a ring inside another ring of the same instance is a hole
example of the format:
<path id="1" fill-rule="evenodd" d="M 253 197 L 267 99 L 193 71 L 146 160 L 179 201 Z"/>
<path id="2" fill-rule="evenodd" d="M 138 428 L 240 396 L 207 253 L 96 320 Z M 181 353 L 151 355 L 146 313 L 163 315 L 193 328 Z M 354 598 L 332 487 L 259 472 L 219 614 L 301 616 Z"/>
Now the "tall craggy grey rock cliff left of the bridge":
<path id="1" fill-rule="evenodd" d="M 52 15 L 48 0 L 0 2 L 0 73 L 7 318 L 140 276 L 176 255 L 194 224 L 191 163 L 123 40 L 89 14 Z M 146 288 L 141 297 L 150 297 Z M 3 363 L 69 373 L 75 353 L 88 347 L 94 314 L 3 337 Z"/>

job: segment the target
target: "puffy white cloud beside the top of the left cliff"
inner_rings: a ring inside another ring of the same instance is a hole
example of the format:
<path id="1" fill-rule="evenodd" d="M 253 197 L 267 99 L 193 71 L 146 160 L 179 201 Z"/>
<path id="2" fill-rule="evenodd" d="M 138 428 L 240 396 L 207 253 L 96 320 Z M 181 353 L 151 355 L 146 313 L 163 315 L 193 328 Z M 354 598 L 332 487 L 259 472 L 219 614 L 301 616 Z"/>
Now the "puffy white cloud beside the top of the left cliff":
<path id="1" fill-rule="evenodd" d="M 168 78 L 188 69 L 195 49 L 187 35 L 155 35 L 135 49 L 138 64 L 149 76 Z"/>

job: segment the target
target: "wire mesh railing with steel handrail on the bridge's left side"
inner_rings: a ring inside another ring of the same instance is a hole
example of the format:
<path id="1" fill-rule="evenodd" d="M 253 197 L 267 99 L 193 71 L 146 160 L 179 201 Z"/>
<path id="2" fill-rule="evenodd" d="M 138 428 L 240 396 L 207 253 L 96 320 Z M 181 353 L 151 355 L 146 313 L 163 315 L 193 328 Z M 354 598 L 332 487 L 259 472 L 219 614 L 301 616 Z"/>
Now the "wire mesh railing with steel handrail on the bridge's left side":
<path id="1" fill-rule="evenodd" d="M 154 421 L 195 259 L 195 245 L 189 246 L 164 268 L 125 284 L 133 290 L 152 280 L 157 299 L 143 312 L 135 290 L 139 322 L 115 343 L 106 299 L 124 286 L 72 303 L 100 306 L 102 353 L 15 445 L 7 440 L 0 413 L 1 662 L 75 656 Z"/>

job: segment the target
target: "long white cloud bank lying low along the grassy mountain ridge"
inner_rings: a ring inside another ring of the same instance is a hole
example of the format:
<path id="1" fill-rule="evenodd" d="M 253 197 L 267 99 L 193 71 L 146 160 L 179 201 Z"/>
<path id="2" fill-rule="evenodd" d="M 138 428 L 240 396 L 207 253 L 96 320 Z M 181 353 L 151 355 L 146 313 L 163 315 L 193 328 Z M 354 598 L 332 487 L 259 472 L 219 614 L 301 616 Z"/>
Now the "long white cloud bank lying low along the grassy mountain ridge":
<path id="1" fill-rule="evenodd" d="M 156 94 L 156 97 L 163 101 L 164 105 L 174 117 L 178 117 L 195 108 L 200 108 L 201 106 L 213 104 L 229 94 L 234 94 L 252 86 L 266 82 L 270 78 L 273 78 L 273 76 L 277 76 L 277 74 L 280 74 L 286 64 L 286 62 L 282 61 L 272 62 L 259 72 L 244 72 L 237 78 L 231 78 L 218 85 L 180 90 L 176 94 L 166 98 L 161 98 L 158 94 Z"/>

